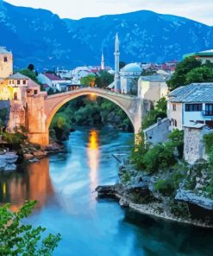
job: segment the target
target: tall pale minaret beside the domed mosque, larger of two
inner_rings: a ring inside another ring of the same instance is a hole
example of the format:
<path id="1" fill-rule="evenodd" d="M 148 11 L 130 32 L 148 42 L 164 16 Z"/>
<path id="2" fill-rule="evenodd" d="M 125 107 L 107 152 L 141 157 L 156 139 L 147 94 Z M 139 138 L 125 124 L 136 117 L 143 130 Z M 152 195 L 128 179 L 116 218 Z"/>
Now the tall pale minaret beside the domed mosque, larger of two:
<path id="1" fill-rule="evenodd" d="M 121 83 L 120 83 L 120 70 L 119 70 L 119 59 L 120 59 L 120 50 L 119 50 L 119 38 L 116 33 L 116 42 L 115 42 L 115 79 L 114 79 L 114 84 L 115 84 L 115 92 L 116 93 L 121 93 Z"/>

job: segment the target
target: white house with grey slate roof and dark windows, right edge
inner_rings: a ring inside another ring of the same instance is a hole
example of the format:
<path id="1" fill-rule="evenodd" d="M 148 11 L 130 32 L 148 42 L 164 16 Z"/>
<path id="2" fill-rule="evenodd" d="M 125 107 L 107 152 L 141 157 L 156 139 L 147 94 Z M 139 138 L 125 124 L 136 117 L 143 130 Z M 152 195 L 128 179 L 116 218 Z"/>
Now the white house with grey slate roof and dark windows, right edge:
<path id="1" fill-rule="evenodd" d="M 167 114 L 170 129 L 183 130 L 191 123 L 213 127 L 213 83 L 181 86 L 168 94 Z"/>

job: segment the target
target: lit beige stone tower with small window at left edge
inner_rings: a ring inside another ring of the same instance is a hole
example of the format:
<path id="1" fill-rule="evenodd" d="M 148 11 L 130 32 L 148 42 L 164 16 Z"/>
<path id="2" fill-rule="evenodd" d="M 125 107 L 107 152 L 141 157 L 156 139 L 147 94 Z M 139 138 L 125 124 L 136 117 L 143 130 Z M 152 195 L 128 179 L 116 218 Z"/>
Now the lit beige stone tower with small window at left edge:
<path id="1" fill-rule="evenodd" d="M 0 80 L 13 74 L 13 54 L 6 48 L 0 47 Z"/>

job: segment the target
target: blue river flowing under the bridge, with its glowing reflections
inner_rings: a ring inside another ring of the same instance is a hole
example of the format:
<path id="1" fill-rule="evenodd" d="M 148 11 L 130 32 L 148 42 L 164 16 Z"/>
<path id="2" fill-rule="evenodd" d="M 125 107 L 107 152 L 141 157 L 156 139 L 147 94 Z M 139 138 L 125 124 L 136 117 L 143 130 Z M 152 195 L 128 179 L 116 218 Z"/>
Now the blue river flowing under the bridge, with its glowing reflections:
<path id="1" fill-rule="evenodd" d="M 54 255 L 213 255 L 213 233 L 153 220 L 97 200 L 99 184 L 117 181 L 113 153 L 129 152 L 133 135 L 115 131 L 75 131 L 60 153 L 14 174 L 0 174 L 0 201 L 17 210 L 38 201 L 28 222 L 47 227 L 62 240 Z"/>

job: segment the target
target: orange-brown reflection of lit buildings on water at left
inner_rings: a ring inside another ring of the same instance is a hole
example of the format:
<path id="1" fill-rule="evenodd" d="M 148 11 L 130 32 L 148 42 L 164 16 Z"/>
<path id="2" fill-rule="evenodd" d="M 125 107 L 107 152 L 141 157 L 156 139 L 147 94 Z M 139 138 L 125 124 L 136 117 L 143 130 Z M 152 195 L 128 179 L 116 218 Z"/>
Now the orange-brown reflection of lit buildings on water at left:
<path id="1" fill-rule="evenodd" d="M 48 158 L 29 164 L 24 173 L 0 174 L 1 204 L 10 202 L 14 211 L 26 200 L 36 200 L 36 208 L 42 208 L 53 193 Z"/>

